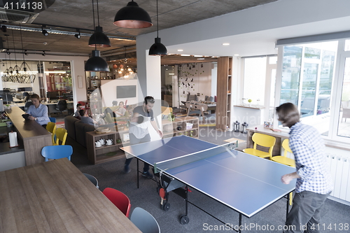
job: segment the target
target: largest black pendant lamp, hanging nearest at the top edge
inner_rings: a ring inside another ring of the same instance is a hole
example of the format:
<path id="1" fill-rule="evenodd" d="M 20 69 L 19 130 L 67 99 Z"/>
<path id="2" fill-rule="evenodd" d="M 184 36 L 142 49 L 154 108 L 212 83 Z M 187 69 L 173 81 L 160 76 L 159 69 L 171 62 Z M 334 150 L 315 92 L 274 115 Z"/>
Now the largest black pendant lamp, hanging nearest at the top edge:
<path id="1" fill-rule="evenodd" d="M 139 7 L 134 0 L 118 10 L 113 24 L 126 28 L 146 28 L 153 25 L 150 15 L 148 15 L 146 10 Z"/>

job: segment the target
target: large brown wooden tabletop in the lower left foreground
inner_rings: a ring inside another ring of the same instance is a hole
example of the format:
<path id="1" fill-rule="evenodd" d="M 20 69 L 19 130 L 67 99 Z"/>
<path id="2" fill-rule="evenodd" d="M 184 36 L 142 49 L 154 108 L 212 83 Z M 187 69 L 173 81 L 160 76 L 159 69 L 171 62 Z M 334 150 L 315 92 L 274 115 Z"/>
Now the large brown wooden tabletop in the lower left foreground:
<path id="1" fill-rule="evenodd" d="M 140 232 L 66 158 L 0 172 L 0 232 Z"/>

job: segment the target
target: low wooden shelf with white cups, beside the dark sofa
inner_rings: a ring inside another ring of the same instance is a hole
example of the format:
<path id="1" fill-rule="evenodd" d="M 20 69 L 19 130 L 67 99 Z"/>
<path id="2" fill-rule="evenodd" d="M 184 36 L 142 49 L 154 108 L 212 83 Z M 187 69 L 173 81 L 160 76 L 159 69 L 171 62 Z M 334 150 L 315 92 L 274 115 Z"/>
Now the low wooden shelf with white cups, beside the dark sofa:
<path id="1" fill-rule="evenodd" d="M 128 139 L 124 134 L 129 135 L 129 130 L 125 129 L 123 131 L 111 130 L 111 132 L 104 134 L 97 134 L 96 132 L 86 133 L 86 144 L 87 144 L 87 157 L 92 164 L 99 164 L 102 162 L 108 162 L 111 160 L 117 160 L 120 156 L 125 156 L 123 150 L 120 147 L 129 146 L 129 141 L 124 141 L 123 139 Z M 96 147 L 95 142 L 99 139 L 112 139 L 112 145 L 102 145 L 101 147 Z M 119 141 L 120 140 L 120 141 Z"/>

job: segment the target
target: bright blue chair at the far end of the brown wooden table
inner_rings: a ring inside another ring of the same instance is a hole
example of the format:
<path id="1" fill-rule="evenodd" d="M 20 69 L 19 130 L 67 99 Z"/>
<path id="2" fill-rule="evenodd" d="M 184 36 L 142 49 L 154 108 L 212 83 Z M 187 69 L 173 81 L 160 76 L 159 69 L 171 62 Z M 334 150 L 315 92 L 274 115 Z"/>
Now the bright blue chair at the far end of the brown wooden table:
<path id="1" fill-rule="evenodd" d="M 71 161 L 71 154 L 73 154 L 73 148 L 69 145 L 44 146 L 41 150 L 41 155 L 45 157 L 45 162 L 62 159 L 63 157 Z"/>

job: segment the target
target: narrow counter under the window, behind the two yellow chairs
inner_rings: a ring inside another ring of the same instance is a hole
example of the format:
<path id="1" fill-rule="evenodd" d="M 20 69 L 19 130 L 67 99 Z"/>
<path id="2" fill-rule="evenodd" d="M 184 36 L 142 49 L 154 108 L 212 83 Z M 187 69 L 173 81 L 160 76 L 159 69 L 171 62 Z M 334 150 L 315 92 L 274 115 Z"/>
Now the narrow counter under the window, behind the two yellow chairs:
<path id="1" fill-rule="evenodd" d="M 255 127 L 257 129 L 255 129 Z M 249 127 L 246 130 L 248 131 L 248 134 L 246 136 L 246 148 L 253 148 L 253 141 L 251 140 L 251 137 L 254 133 L 260 133 L 260 134 L 267 134 L 270 136 L 274 136 L 276 138 L 276 143 L 274 144 L 274 150 L 272 150 L 272 155 L 281 155 L 281 145 L 282 141 L 284 139 L 289 139 L 289 132 L 282 131 L 282 132 L 273 132 L 271 129 L 264 127 L 263 125 L 258 125 L 255 127 Z M 283 130 L 283 129 L 282 129 Z M 258 150 L 263 150 L 265 152 L 268 152 L 268 148 L 263 148 L 261 146 L 257 146 Z"/>

